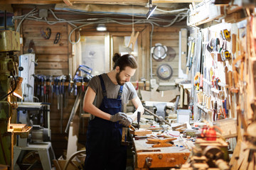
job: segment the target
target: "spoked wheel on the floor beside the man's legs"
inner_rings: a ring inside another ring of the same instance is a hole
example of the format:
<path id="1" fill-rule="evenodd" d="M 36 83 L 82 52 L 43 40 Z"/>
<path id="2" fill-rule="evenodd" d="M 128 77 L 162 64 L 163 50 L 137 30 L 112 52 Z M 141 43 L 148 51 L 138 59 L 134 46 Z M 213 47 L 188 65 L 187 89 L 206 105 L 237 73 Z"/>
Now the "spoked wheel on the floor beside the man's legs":
<path id="1" fill-rule="evenodd" d="M 86 150 L 80 150 L 78 152 L 75 152 L 65 163 L 64 170 L 67 170 L 69 165 L 72 165 L 77 170 L 83 169 L 82 165 L 84 164 L 86 157 L 85 151 Z M 73 161 L 74 158 L 75 161 Z"/>

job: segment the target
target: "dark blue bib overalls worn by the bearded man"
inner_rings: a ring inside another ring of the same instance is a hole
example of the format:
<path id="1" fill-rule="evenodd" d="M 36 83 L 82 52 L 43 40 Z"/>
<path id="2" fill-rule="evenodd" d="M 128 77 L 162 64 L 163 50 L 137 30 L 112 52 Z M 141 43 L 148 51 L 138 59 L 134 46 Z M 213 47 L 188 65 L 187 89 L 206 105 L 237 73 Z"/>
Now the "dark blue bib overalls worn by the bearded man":
<path id="1" fill-rule="evenodd" d="M 122 111 L 123 86 L 117 98 L 107 98 L 104 81 L 100 75 L 103 99 L 100 110 L 114 115 Z M 126 169 L 127 149 L 121 145 L 122 125 L 95 117 L 90 120 L 87 130 L 85 170 L 122 170 Z"/>

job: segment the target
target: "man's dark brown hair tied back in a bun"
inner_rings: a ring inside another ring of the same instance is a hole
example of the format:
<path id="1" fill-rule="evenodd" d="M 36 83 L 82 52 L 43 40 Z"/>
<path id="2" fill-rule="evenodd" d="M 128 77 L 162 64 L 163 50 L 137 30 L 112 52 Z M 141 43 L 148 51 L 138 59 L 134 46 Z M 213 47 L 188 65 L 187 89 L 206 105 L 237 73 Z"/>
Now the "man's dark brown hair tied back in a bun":
<path id="1" fill-rule="evenodd" d="M 117 66 L 120 68 L 120 72 L 124 70 L 125 67 L 131 67 L 132 69 L 137 69 L 138 64 L 135 58 L 132 55 L 119 55 L 118 53 L 115 53 L 113 58 L 114 67 L 115 69 Z"/>

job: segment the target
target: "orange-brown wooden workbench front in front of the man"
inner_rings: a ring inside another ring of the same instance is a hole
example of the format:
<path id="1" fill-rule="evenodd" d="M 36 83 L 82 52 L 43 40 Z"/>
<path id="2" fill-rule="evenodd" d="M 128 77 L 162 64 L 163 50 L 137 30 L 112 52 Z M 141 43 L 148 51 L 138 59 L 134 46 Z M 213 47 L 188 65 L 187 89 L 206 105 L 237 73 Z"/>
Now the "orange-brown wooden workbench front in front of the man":
<path id="1" fill-rule="evenodd" d="M 146 143 L 147 140 L 135 140 L 134 138 L 132 140 L 135 151 L 135 170 L 177 167 L 184 164 L 191 153 L 178 140 L 174 141 L 173 147 L 152 147 L 152 144 Z"/>

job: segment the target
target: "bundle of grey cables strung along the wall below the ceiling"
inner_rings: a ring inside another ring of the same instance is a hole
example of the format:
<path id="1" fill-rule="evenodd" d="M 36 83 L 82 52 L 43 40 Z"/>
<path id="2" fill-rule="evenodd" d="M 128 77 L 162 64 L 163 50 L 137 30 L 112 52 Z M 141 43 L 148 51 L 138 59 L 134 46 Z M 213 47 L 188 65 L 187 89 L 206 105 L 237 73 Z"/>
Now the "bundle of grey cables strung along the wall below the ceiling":
<path id="1" fill-rule="evenodd" d="M 121 25 L 132 25 L 132 28 L 134 29 L 134 24 L 136 23 L 149 23 L 151 25 L 151 33 L 150 33 L 150 49 L 152 47 L 152 37 L 153 37 L 153 31 L 154 31 L 154 25 L 155 26 L 161 26 L 161 27 L 169 27 L 172 26 L 174 23 L 176 22 L 180 22 L 182 21 L 184 18 L 186 18 L 188 16 L 188 8 L 183 8 L 183 9 L 178 9 L 178 10 L 174 10 L 174 11 L 165 11 L 165 10 L 161 10 L 159 8 L 157 8 L 159 11 L 165 12 L 165 13 L 178 13 L 176 15 L 176 17 L 174 19 L 168 20 L 168 19 L 164 19 L 164 18 L 156 18 L 156 17 L 151 17 L 149 20 L 146 20 L 144 16 L 136 16 L 137 18 L 143 18 L 143 19 L 134 19 L 134 13 L 132 11 L 132 20 L 131 19 L 124 19 L 124 18 L 86 18 L 86 19 L 79 19 L 79 20 L 65 20 L 63 18 L 58 18 L 55 14 L 55 12 L 53 12 L 51 9 L 49 9 L 50 13 L 53 14 L 53 17 L 55 18 L 55 20 L 57 21 L 48 21 L 48 18 L 39 18 L 36 17 L 35 15 L 37 14 L 36 12 L 38 11 L 36 8 L 33 8 L 32 11 L 30 11 L 29 13 L 23 15 L 23 16 L 14 16 L 13 18 L 13 22 L 15 20 L 21 19 L 21 21 L 18 23 L 18 27 L 17 27 L 17 31 L 19 32 L 20 27 L 21 27 L 21 23 L 25 20 L 32 20 L 32 21 L 41 21 L 41 22 L 46 22 L 49 25 L 54 25 L 57 23 L 68 23 L 70 24 L 70 26 L 73 26 L 73 30 L 70 31 L 69 35 L 68 35 L 68 41 L 71 44 L 77 44 L 80 41 L 80 28 L 84 27 L 84 26 L 89 26 L 91 24 L 97 24 L 97 23 L 119 23 Z M 181 13 L 181 11 L 187 11 L 186 13 Z M 72 12 L 72 13 L 82 13 L 82 14 L 86 14 L 86 15 L 106 15 L 106 14 L 102 14 L 102 13 L 84 13 L 84 12 L 78 12 L 78 11 L 70 11 L 68 10 L 68 12 Z M 123 15 L 123 16 L 131 16 L 129 14 L 127 15 Z M 162 25 L 160 24 L 161 22 L 163 23 L 169 23 L 167 25 Z M 75 24 L 82 24 L 81 26 L 76 26 Z M 71 35 L 73 34 L 73 32 L 75 30 L 78 30 L 78 40 L 76 42 L 72 42 L 71 41 Z M 150 57 L 151 59 L 151 57 Z M 150 60 L 150 65 L 152 67 L 152 61 Z M 152 69 L 150 71 L 151 74 L 151 78 L 153 77 L 152 74 Z"/>

